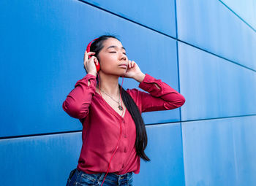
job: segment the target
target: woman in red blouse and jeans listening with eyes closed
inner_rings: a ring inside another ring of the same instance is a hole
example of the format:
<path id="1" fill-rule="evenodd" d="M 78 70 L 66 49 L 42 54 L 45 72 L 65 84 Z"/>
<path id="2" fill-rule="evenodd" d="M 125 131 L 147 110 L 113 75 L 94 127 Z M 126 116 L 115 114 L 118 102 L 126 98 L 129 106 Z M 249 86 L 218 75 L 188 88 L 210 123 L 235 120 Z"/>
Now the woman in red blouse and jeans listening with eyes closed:
<path id="1" fill-rule="evenodd" d="M 150 160 L 144 152 L 147 134 L 141 113 L 176 109 L 185 98 L 140 71 L 116 36 L 99 36 L 90 44 L 84 55 L 87 74 L 62 104 L 83 124 L 78 166 L 70 172 L 67 185 L 132 185 L 132 172 L 140 172 L 140 158 Z M 133 78 L 146 92 L 124 90 L 119 77 Z"/>

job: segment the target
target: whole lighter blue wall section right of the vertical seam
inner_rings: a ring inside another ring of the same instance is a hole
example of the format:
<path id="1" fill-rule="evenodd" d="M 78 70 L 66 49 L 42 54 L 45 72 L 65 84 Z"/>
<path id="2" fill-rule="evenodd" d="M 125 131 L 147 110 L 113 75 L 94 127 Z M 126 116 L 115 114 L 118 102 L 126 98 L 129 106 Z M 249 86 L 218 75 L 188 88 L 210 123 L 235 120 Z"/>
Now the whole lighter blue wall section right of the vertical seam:
<path id="1" fill-rule="evenodd" d="M 185 185 L 256 185 L 255 9 L 236 3 L 177 0 Z"/>

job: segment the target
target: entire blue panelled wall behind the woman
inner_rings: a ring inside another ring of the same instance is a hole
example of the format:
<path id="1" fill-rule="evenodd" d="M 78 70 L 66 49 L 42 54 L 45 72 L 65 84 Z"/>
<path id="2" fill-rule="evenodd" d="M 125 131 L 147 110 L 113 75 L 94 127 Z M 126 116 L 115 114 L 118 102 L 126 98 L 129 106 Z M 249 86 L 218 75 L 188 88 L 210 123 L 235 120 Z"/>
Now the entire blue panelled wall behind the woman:
<path id="1" fill-rule="evenodd" d="M 256 185 L 255 9 L 253 0 L 1 0 L 1 185 L 66 184 L 82 125 L 61 105 L 102 34 L 186 98 L 143 113 L 151 162 L 141 160 L 134 185 Z"/>

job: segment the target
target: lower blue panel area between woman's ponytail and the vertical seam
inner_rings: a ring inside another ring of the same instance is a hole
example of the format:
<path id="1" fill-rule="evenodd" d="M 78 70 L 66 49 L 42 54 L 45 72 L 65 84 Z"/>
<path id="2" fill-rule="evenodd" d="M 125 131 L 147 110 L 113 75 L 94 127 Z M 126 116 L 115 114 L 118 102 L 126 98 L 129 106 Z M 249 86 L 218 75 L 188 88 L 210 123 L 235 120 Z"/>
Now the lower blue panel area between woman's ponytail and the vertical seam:
<path id="1" fill-rule="evenodd" d="M 151 161 L 140 160 L 140 173 L 133 174 L 134 185 L 185 185 L 181 124 L 148 125 L 146 131 L 145 153 Z"/>

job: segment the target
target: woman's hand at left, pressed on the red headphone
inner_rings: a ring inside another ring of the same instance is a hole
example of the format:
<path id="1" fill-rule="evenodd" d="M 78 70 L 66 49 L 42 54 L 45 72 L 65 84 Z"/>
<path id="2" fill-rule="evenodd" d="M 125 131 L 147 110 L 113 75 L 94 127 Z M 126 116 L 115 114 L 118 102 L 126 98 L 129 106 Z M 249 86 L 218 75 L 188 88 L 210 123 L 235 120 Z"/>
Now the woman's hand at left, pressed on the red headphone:
<path id="1" fill-rule="evenodd" d="M 94 52 L 89 52 L 84 53 L 84 57 L 83 57 L 83 67 L 84 69 L 86 69 L 87 74 L 94 74 L 95 76 L 97 76 L 97 69 L 95 66 L 95 63 L 98 64 L 99 61 L 95 56 L 91 56 L 91 58 L 89 58 L 89 55 L 94 55 Z"/>

